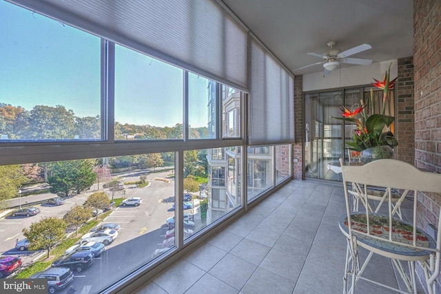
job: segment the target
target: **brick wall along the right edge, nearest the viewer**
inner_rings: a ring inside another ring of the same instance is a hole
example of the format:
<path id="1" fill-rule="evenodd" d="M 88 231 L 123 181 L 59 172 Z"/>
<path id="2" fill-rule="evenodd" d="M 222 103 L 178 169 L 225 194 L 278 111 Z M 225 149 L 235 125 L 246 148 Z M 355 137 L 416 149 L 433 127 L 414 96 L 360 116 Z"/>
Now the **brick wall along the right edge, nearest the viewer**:
<path id="1" fill-rule="evenodd" d="M 441 1 L 413 1 L 415 165 L 441 172 Z M 437 222 L 441 194 L 419 197 L 419 225 Z M 440 289 L 438 277 L 438 289 Z M 437 291 L 438 291 L 437 289 Z M 441 291 L 440 291 L 441 292 Z M 437 292 L 438 293 L 438 292 Z"/>

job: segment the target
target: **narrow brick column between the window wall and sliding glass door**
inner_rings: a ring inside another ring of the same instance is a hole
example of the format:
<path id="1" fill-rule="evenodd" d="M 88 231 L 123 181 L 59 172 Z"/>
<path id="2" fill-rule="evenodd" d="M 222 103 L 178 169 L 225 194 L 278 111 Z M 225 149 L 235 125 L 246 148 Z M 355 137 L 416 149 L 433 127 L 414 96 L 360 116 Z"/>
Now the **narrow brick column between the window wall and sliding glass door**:
<path id="1" fill-rule="evenodd" d="M 296 143 L 293 146 L 294 178 L 302 179 L 302 145 L 303 145 L 303 77 L 294 78 L 294 129 Z"/>

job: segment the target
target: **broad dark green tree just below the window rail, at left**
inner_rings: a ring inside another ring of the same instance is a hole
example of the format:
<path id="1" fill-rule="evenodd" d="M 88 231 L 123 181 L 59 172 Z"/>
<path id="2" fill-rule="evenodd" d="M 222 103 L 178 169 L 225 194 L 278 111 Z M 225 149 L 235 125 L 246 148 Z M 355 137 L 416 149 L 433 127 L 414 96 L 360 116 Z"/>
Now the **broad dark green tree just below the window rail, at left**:
<path id="1" fill-rule="evenodd" d="M 67 197 L 89 189 L 95 180 L 92 160 L 59 161 L 54 163 L 52 176 L 48 178 L 49 191 Z"/>

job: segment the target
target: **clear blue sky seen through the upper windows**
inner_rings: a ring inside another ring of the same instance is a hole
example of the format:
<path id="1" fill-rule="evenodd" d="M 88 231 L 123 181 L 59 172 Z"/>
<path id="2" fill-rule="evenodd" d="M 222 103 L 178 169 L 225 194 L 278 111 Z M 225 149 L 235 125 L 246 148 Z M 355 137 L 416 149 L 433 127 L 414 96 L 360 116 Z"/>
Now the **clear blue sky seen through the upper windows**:
<path id="1" fill-rule="evenodd" d="M 101 40 L 0 1 L 0 103 L 31 110 L 63 105 L 76 116 L 100 110 Z M 115 119 L 173 127 L 183 122 L 183 70 L 116 45 Z M 207 126 L 207 79 L 189 83 L 189 122 Z M 167 111 L 164 111 L 167 109 Z"/>

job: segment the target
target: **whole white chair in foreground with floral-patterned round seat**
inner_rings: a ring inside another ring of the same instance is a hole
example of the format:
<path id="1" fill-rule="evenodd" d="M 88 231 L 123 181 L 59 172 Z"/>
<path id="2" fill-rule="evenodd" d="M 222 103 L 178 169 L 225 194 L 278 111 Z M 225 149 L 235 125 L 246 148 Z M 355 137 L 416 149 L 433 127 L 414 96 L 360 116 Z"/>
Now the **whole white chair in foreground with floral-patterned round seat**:
<path id="1" fill-rule="evenodd" d="M 435 211 L 438 217 L 438 228 L 435 236 L 421 229 L 429 224 L 420 224 L 417 209 L 420 204 L 418 198 L 424 193 L 441 193 L 441 174 L 420 171 L 407 162 L 394 159 L 382 159 L 369 162 L 367 165 L 342 167 L 343 185 L 347 214 L 339 221 L 340 230 L 347 237 L 347 254 L 345 264 L 344 293 L 355 293 L 358 280 L 366 280 L 374 284 L 393 289 L 400 293 L 417 293 L 416 290 L 416 262 L 424 271 L 427 288 L 430 294 L 435 294 L 435 279 L 440 274 L 441 249 L 441 211 Z M 365 211 L 351 211 L 353 194 L 348 189 L 348 183 L 355 185 L 362 203 L 368 202 L 368 188 L 375 186 L 384 189 L 387 198 L 387 213 L 380 214 L 365 207 Z M 396 211 L 392 205 L 393 191 L 400 191 L 401 195 L 412 198 L 413 213 L 409 220 L 394 217 Z M 438 206 L 438 209 L 440 207 Z M 417 227 L 419 226 L 419 227 Z M 360 263 L 358 248 L 369 251 L 364 262 Z M 363 276 L 373 253 L 390 258 L 396 271 L 400 273 L 407 291 L 392 288 L 380 282 L 369 280 Z M 403 262 L 407 262 L 405 269 Z"/>

